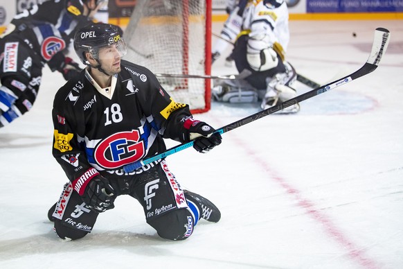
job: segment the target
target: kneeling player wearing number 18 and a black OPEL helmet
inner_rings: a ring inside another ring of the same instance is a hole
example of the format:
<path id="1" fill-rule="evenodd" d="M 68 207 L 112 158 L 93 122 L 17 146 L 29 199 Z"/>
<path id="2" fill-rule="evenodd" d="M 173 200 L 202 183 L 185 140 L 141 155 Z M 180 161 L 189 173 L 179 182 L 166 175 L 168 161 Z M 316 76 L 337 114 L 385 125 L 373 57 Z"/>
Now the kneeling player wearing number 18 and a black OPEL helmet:
<path id="1" fill-rule="evenodd" d="M 121 59 L 121 35 L 111 24 L 92 24 L 75 34 L 75 52 L 87 68 L 55 95 L 53 156 L 70 182 L 48 218 L 60 238 L 82 238 L 98 214 L 126 194 L 140 202 L 159 236 L 183 240 L 200 218 L 220 220 L 219 209 L 183 190 L 164 159 L 132 173 L 123 166 L 165 151 L 163 139 L 194 139 L 194 148 L 205 153 L 222 137 L 193 119 L 188 105 L 172 100 L 150 70 Z"/>

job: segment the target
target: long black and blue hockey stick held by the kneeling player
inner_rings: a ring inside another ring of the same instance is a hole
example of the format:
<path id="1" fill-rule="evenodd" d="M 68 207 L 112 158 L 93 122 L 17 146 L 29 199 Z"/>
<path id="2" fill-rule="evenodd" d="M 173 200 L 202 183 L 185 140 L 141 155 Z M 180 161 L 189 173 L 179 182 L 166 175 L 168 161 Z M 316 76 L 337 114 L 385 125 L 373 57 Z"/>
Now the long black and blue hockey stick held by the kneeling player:
<path id="1" fill-rule="evenodd" d="M 319 94 L 329 92 L 331 89 L 337 88 L 341 85 L 346 85 L 347 83 L 350 83 L 352 80 L 355 80 L 357 78 L 360 78 L 361 76 L 365 76 L 368 73 L 371 73 L 378 67 L 379 62 L 381 61 L 382 55 L 384 55 L 386 48 L 388 46 L 389 37 L 390 37 L 390 33 L 387 29 L 377 28 L 375 30 L 375 36 L 374 36 L 374 41 L 373 41 L 373 46 L 372 46 L 372 49 L 370 52 L 370 56 L 369 56 L 368 60 L 366 61 L 366 63 L 364 64 L 364 66 L 361 67 L 360 69 L 358 69 L 357 71 L 355 71 L 354 73 L 351 73 L 350 75 L 340 78 L 338 80 L 334 80 L 332 83 L 328 83 L 326 85 L 323 85 L 322 87 L 312 89 L 312 91 L 310 91 L 310 92 L 306 92 L 305 94 L 301 94 L 299 96 L 291 98 L 288 101 L 275 105 L 274 107 L 269 107 L 266 110 L 262 110 L 255 114 L 247 116 L 243 119 L 240 119 L 238 121 L 225 125 L 224 127 L 217 129 L 215 132 L 224 134 L 224 132 L 229 132 L 242 125 L 251 123 L 252 121 L 256 121 L 258 119 L 261 119 L 264 116 L 273 114 L 274 112 L 278 112 L 279 110 L 283 110 L 285 107 L 289 107 L 296 103 L 305 101 L 305 100 L 312 98 L 314 96 L 317 96 Z M 145 164 L 150 164 L 151 162 L 155 162 L 156 160 L 159 160 L 159 159 L 162 159 L 169 155 L 172 155 L 174 153 L 177 153 L 181 150 L 184 150 L 185 148 L 189 148 L 189 147 L 193 146 L 193 142 L 194 141 L 190 141 L 186 144 L 174 146 L 173 148 L 166 150 L 164 153 L 160 153 L 153 157 L 143 159 L 143 160 L 134 162 L 132 164 L 127 164 L 126 166 L 123 166 L 123 170 L 126 173 L 130 173 L 130 172 L 136 170 L 137 168 L 144 166 Z"/>

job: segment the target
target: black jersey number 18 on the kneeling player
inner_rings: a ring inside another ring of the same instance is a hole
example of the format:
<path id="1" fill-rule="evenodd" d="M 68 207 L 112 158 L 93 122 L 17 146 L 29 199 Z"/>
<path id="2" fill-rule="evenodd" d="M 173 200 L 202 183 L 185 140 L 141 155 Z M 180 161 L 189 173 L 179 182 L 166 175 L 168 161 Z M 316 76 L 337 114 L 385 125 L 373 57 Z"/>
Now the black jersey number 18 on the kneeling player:
<path id="1" fill-rule="evenodd" d="M 110 99 L 85 70 L 55 95 L 53 156 L 71 182 L 86 173 L 125 176 L 124 165 L 165 151 L 163 138 L 183 140 L 188 105 L 172 100 L 145 67 L 120 65 Z"/>

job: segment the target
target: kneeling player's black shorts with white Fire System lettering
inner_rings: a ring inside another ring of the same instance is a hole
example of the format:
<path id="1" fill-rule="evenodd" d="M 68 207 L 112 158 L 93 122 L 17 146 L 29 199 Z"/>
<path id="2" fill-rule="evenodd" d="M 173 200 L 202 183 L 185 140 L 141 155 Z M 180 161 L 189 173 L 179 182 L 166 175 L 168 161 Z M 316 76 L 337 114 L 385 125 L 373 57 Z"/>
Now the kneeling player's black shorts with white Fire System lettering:
<path id="1" fill-rule="evenodd" d="M 190 220 L 190 211 L 181 189 L 180 184 L 177 182 L 174 175 L 169 171 L 165 161 L 156 164 L 154 167 L 144 171 L 138 175 L 123 177 L 116 180 L 115 178 L 109 180 L 111 186 L 114 188 L 114 199 L 120 195 L 129 195 L 136 198 L 144 209 L 145 219 L 147 223 L 152 225 L 159 234 L 165 234 L 165 229 L 168 223 L 161 225 L 159 219 L 172 219 L 172 213 L 179 214 L 178 229 L 188 227 L 191 230 L 183 230 L 179 234 L 190 235 L 192 233 L 192 222 Z M 71 183 L 64 185 L 62 195 L 57 202 L 55 211 L 52 215 L 55 218 L 55 223 L 62 225 L 55 225 L 55 229 L 60 227 L 68 227 L 71 229 L 78 229 L 82 232 L 91 232 L 93 225 L 96 223 L 98 213 L 91 211 L 76 191 L 73 191 Z M 175 216 L 174 219 L 177 219 Z M 172 229 L 172 227 L 170 228 Z M 57 232 L 57 231 L 56 231 Z M 60 233 L 58 233 L 60 234 Z M 169 232 L 168 232 L 169 234 Z M 169 237 L 169 236 L 168 236 Z M 174 238 L 177 235 L 173 236 Z"/>

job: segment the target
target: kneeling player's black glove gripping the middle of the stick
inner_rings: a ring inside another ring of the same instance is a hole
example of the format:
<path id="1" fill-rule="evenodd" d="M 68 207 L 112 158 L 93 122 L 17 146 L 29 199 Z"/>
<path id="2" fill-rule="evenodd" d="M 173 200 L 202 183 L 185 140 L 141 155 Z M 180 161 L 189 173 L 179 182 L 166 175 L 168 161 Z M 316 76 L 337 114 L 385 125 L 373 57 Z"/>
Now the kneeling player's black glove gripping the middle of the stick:
<path id="1" fill-rule="evenodd" d="M 183 133 L 183 142 L 194 140 L 193 148 L 199 153 L 207 153 L 215 146 L 221 144 L 221 134 L 203 121 L 197 121 L 192 117 L 183 123 L 186 132 Z"/>

